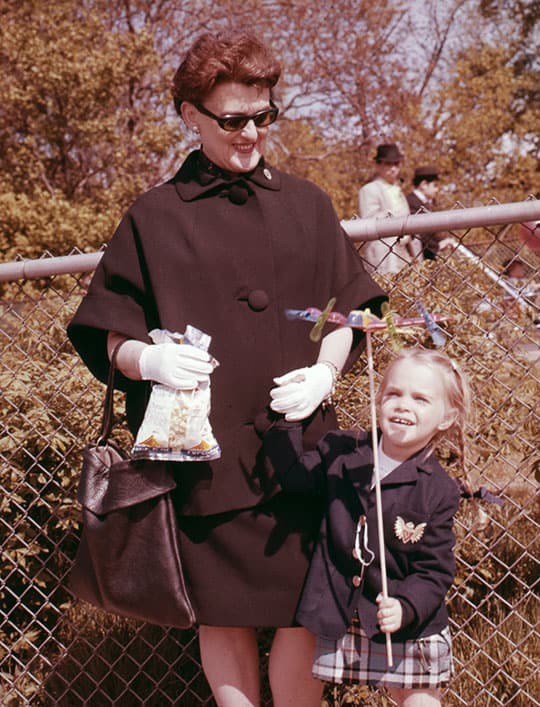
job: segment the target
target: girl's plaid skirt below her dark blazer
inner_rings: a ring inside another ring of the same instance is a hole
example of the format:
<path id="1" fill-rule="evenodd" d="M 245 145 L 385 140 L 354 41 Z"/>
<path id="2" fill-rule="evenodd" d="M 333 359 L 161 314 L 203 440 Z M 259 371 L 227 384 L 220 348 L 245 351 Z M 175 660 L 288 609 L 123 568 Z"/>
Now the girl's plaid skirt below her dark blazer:
<path id="1" fill-rule="evenodd" d="M 452 674 L 450 630 L 402 643 L 392 642 L 393 665 L 387 665 L 386 643 L 372 641 L 353 619 L 338 640 L 318 637 L 313 676 L 324 682 L 434 689 Z"/>

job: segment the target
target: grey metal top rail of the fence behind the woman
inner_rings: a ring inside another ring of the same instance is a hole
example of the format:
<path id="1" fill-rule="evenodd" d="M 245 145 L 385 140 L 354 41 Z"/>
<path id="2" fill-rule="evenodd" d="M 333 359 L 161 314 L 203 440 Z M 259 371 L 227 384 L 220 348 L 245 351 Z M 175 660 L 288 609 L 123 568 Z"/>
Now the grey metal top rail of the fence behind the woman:
<path id="1" fill-rule="evenodd" d="M 351 240 L 373 241 L 389 236 L 460 230 L 477 226 L 502 226 L 508 223 L 531 221 L 540 221 L 540 199 L 472 208 L 454 208 L 447 211 L 426 212 L 403 217 L 357 218 L 342 221 L 341 225 Z M 102 256 L 103 251 L 98 251 L 0 263 L 0 282 L 91 272 L 96 269 Z"/>

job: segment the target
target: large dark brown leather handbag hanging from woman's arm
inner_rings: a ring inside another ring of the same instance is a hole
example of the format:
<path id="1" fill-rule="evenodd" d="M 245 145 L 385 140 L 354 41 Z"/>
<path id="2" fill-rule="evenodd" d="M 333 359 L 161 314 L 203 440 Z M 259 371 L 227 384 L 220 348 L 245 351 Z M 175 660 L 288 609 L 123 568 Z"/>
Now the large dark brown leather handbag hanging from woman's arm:
<path id="1" fill-rule="evenodd" d="M 83 452 L 77 494 L 83 527 L 68 585 L 75 596 L 105 611 L 189 628 L 195 613 L 182 572 L 170 465 L 132 461 L 109 439 L 117 350 L 101 434 Z"/>

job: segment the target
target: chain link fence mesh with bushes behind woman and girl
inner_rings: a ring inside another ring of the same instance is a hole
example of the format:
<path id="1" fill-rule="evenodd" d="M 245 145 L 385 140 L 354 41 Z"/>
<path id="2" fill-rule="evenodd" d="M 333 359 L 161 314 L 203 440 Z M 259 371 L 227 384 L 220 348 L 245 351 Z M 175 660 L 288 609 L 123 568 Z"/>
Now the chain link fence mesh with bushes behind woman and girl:
<path id="1" fill-rule="evenodd" d="M 397 275 L 376 275 L 400 315 L 416 315 L 422 300 L 451 316 L 445 348 L 475 391 L 468 477 L 476 493 L 457 517 L 458 572 L 448 597 L 455 676 L 446 705 L 540 705 L 540 243 L 531 233 L 527 239 L 517 224 L 462 228 L 452 232 L 459 248 Z M 511 281 L 509 261 L 520 263 Z M 66 588 L 80 532 L 81 450 L 96 434 L 104 393 L 65 336 L 88 277 L 64 271 L 0 283 L 0 703 L 213 705 L 196 630 L 104 614 Z M 400 339 L 431 345 L 423 329 Z M 392 343 L 374 338 L 379 370 Z M 369 424 L 365 365 L 362 356 L 340 383 L 343 426 Z M 121 398 L 116 402 L 120 414 Z M 458 475 L 452 449 L 441 454 Z M 271 638 L 260 632 L 263 672 Z M 362 687 L 328 686 L 324 699 L 332 706 L 392 704 Z M 265 682 L 263 703 L 271 704 Z"/>

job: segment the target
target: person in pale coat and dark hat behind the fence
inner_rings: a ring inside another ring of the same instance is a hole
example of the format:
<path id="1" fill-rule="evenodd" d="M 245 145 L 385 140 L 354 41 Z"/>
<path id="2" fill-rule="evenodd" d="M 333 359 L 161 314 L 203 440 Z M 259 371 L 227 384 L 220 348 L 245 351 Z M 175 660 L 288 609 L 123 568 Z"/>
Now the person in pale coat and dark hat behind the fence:
<path id="1" fill-rule="evenodd" d="M 409 215 L 409 205 L 399 177 L 402 161 L 403 155 L 395 143 L 378 145 L 375 176 L 359 193 L 361 218 Z M 391 236 L 367 241 L 362 245 L 360 255 L 366 261 L 369 271 L 393 273 L 421 257 L 421 245 L 410 236 Z"/>

